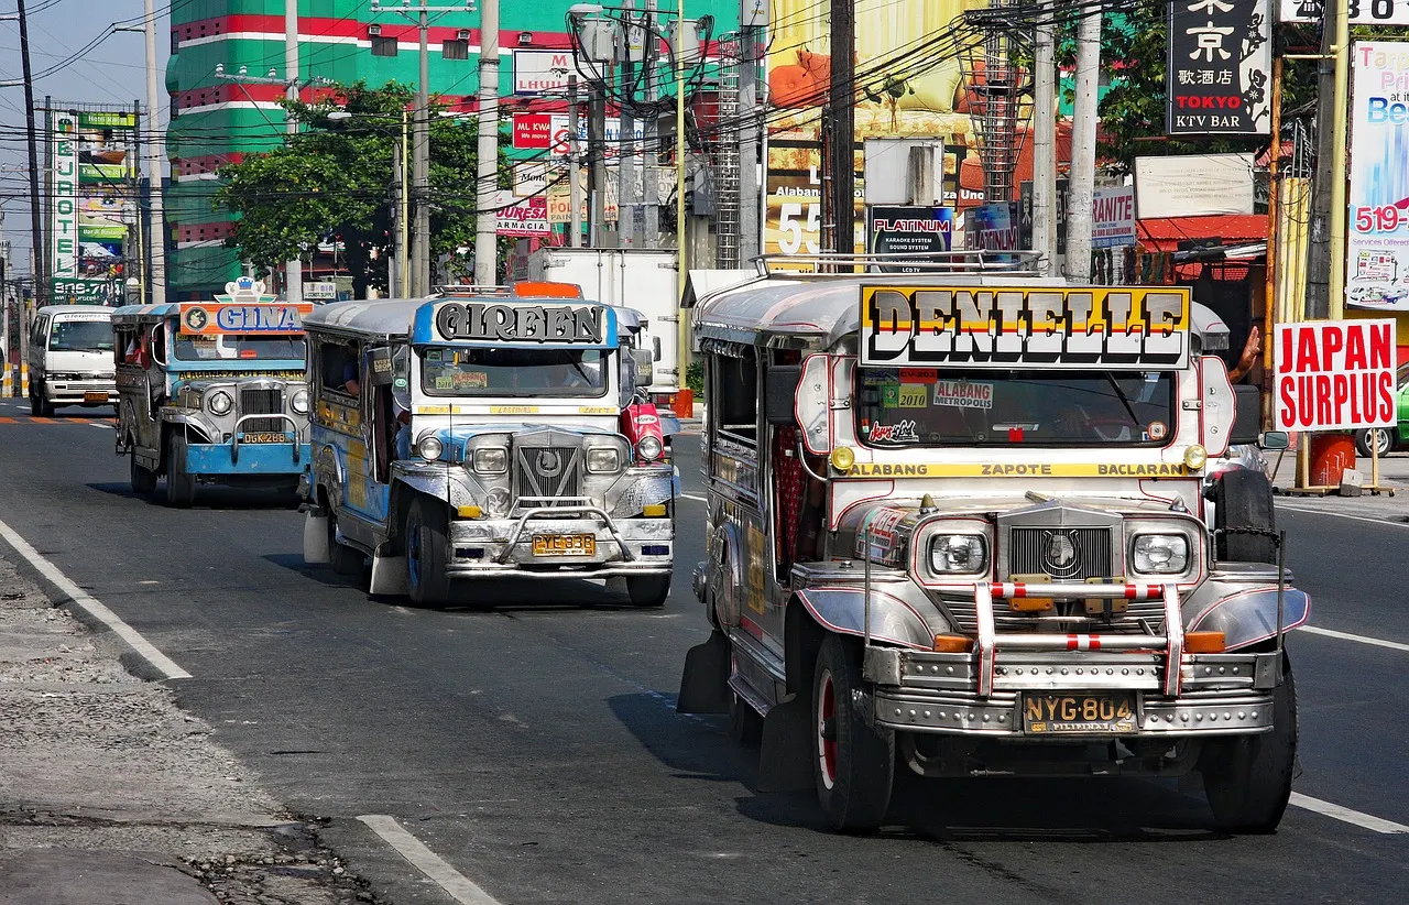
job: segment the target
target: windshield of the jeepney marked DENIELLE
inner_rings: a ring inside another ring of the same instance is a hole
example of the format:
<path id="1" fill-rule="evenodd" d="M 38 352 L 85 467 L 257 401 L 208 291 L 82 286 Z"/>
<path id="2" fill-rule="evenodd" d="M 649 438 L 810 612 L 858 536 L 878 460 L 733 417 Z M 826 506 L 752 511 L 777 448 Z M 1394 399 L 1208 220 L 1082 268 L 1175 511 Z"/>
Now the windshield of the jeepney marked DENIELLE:
<path id="1" fill-rule="evenodd" d="M 857 430 L 871 447 L 1160 447 L 1175 417 L 1168 371 L 857 369 Z"/>

